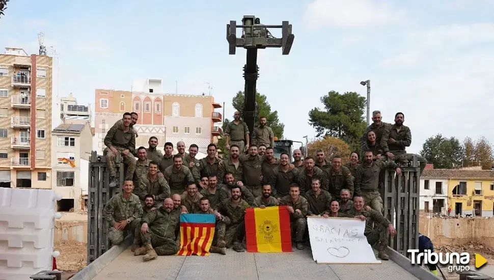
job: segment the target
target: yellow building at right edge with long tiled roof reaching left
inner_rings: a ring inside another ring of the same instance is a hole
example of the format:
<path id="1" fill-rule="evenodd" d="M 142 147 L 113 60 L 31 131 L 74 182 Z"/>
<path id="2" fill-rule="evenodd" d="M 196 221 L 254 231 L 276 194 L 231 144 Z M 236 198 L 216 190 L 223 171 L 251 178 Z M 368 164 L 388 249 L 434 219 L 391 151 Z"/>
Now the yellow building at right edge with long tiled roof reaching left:
<path id="1" fill-rule="evenodd" d="M 494 170 L 432 169 L 421 179 L 444 180 L 451 214 L 491 217 L 494 212 Z"/>

